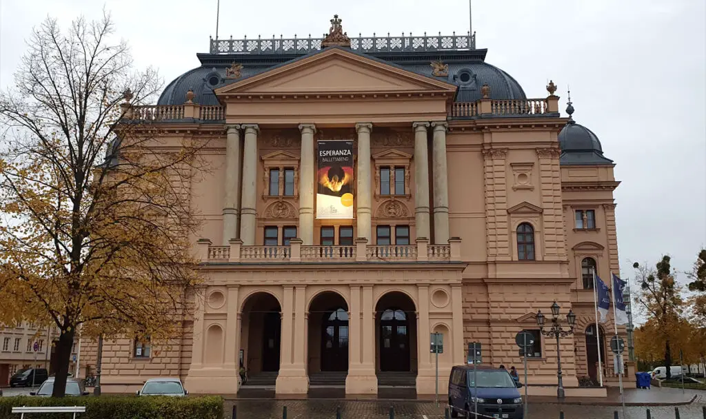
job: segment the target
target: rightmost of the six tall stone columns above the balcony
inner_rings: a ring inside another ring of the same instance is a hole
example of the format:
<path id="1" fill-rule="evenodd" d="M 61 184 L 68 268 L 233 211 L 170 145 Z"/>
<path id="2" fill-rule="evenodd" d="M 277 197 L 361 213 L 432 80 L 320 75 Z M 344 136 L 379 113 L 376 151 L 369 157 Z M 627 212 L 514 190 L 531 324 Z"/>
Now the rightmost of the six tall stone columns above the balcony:
<path id="1" fill-rule="evenodd" d="M 445 121 L 432 122 L 434 178 L 434 244 L 448 244 L 448 170 Z"/>

